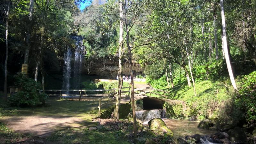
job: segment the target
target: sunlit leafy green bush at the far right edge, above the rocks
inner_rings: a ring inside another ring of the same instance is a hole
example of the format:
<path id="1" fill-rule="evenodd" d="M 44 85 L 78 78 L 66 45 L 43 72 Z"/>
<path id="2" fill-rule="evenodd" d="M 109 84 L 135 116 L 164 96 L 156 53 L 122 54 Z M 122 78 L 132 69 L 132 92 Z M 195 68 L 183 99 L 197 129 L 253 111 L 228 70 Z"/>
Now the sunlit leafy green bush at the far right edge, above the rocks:
<path id="1" fill-rule="evenodd" d="M 244 113 L 247 122 L 256 121 L 256 71 L 242 79 L 235 107 Z"/>

